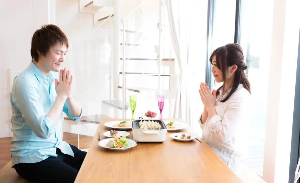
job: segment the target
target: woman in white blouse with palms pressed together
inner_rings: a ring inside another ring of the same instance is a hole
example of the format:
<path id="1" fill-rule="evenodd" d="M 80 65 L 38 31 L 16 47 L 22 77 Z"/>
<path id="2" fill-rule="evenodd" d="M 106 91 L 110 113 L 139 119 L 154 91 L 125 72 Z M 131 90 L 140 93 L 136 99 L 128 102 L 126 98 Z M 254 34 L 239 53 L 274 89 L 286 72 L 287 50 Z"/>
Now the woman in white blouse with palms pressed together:
<path id="1" fill-rule="evenodd" d="M 247 130 L 250 124 L 250 83 L 244 73 L 247 65 L 240 45 L 226 44 L 211 54 L 211 72 L 223 85 L 210 92 L 200 84 L 204 105 L 199 119 L 202 139 L 235 172 L 247 155 Z"/>

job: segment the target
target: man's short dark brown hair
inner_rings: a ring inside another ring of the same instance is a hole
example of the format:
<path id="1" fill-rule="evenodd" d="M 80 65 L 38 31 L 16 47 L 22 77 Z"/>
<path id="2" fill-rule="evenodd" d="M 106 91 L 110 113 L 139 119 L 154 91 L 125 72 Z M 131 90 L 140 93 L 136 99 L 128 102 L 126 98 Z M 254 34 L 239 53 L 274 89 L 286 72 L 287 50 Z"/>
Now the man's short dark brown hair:
<path id="1" fill-rule="evenodd" d="M 30 53 L 32 60 L 38 62 L 38 56 L 46 56 L 49 48 L 56 44 L 64 44 L 67 48 L 69 47 L 64 32 L 58 26 L 52 24 L 42 26 L 41 29 L 35 31 L 31 39 Z"/>

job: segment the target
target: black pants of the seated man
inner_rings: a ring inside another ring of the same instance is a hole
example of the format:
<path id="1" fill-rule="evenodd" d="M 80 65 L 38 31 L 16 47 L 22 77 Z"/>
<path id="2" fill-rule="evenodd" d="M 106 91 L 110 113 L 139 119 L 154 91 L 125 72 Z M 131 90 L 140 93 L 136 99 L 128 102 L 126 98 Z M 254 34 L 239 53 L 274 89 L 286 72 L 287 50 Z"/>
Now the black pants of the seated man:
<path id="1" fill-rule="evenodd" d="M 33 182 L 74 182 L 86 152 L 73 145 L 70 147 L 74 152 L 74 157 L 63 154 L 57 148 L 57 158 L 48 157 L 38 163 L 16 164 L 16 172 L 21 177 Z"/>

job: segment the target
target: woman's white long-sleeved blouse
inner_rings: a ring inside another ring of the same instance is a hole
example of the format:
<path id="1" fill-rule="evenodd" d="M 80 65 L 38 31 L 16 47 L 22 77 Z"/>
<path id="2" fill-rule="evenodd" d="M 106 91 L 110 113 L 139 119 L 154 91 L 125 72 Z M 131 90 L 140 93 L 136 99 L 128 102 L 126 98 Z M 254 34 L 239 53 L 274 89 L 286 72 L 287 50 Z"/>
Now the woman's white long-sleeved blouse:
<path id="1" fill-rule="evenodd" d="M 222 89 L 221 89 L 222 90 Z M 250 93 L 240 84 L 226 102 L 215 103 L 217 114 L 201 123 L 202 139 L 233 171 L 248 154 L 248 131 L 252 114 Z M 230 92 L 226 91 L 224 96 Z"/>

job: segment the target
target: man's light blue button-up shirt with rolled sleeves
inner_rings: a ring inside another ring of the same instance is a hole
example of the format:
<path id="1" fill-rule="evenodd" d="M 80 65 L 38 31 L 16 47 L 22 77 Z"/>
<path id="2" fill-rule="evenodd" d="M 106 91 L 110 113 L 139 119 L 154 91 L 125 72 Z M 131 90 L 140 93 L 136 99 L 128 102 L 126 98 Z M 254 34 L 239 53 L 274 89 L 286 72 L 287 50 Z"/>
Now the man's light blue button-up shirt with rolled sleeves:
<path id="1" fill-rule="evenodd" d="M 29 67 L 13 80 L 10 94 L 13 139 L 10 150 L 12 167 L 17 163 L 37 163 L 47 157 L 57 157 L 56 148 L 74 157 L 67 142 L 61 139 L 62 113 L 55 126 L 46 114 L 56 99 L 52 72 L 47 77 L 31 62 Z M 71 119 L 66 103 L 62 110 Z"/>

